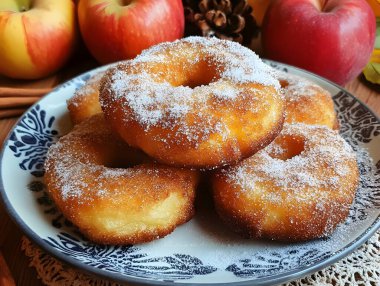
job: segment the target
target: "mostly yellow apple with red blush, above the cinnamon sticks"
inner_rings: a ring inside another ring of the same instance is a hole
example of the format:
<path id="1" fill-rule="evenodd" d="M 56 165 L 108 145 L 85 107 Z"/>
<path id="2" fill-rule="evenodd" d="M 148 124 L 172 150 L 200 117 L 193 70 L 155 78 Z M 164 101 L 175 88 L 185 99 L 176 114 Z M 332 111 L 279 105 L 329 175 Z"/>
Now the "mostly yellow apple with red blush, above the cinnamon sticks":
<path id="1" fill-rule="evenodd" d="M 37 79 L 54 73 L 76 41 L 71 0 L 0 1 L 0 74 Z"/>

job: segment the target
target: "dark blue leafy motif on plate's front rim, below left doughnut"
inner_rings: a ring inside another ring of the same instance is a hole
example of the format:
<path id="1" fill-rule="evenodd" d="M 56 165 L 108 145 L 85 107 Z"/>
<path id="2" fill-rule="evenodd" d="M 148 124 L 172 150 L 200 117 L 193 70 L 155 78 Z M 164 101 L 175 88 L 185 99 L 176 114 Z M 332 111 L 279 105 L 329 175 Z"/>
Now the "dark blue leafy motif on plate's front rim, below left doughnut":
<path id="1" fill-rule="evenodd" d="M 133 245 L 97 245 L 62 232 L 57 238 L 48 237 L 45 242 L 88 266 L 140 278 L 174 281 L 210 274 L 217 270 L 190 255 L 148 257 Z"/>

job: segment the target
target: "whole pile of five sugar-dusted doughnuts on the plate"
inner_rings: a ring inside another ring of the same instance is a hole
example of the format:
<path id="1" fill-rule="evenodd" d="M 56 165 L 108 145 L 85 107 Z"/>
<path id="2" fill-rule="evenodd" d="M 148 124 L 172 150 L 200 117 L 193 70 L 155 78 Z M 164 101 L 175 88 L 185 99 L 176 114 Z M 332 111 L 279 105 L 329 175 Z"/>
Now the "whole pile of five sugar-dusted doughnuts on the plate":
<path id="1" fill-rule="evenodd" d="M 194 215 L 202 173 L 242 236 L 330 235 L 358 184 L 331 96 L 237 43 L 162 43 L 91 78 L 68 101 L 73 131 L 48 152 L 47 189 L 89 239 L 163 237 Z"/>

